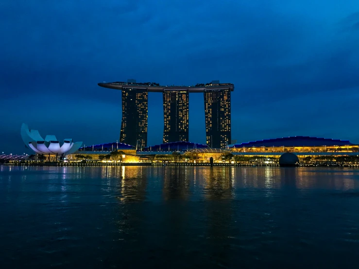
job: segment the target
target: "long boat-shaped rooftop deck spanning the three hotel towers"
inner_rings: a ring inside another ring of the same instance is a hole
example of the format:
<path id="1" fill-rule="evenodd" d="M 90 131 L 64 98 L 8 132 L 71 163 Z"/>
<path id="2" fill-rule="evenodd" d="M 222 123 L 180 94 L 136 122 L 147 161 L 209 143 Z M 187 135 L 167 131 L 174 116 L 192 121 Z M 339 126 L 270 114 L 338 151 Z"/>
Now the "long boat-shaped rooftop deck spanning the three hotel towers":
<path id="1" fill-rule="evenodd" d="M 110 89 L 122 90 L 122 88 L 136 88 L 136 89 L 147 89 L 148 92 L 163 92 L 164 90 L 188 90 L 190 93 L 204 92 L 205 90 L 222 90 L 230 89 L 234 90 L 234 84 L 231 83 L 207 83 L 207 84 L 196 84 L 194 86 L 183 86 L 183 85 L 159 85 L 158 83 L 131 83 L 131 82 L 109 82 L 109 83 L 98 83 L 99 86 Z"/>

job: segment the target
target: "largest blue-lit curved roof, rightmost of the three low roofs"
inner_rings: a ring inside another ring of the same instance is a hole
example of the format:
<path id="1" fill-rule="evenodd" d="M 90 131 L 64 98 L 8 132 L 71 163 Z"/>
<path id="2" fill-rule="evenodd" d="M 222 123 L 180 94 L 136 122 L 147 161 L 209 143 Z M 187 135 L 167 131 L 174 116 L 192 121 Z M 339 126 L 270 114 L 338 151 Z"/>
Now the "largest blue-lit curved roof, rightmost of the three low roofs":
<path id="1" fill-rule="evenodd" d="M 318 138 L 310 136 L 290 136 L 274 139 L 263 139 L 247 143 L 229 145 L 229 148 L 249 147 L 319 147 L 319 146 L 346 146 L 355 145 L 349 140 Z"/>

